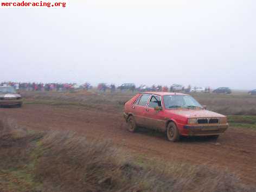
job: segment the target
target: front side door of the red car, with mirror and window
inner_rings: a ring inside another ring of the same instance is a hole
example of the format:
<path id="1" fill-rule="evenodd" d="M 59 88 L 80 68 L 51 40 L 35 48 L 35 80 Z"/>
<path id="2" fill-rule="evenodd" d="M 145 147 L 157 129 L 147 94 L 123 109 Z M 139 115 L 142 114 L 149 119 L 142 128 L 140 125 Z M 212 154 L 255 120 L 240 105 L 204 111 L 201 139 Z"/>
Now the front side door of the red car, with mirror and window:
<path id="1" fill-rule="evenodd" d="M 156 107 L 158 107 L 161 110 L 155 110 Z M 149 129 L 165 129 L 165 117 L 163 112 L 161 96 L 151 95 L 144 116 L 145 126 Z"/>

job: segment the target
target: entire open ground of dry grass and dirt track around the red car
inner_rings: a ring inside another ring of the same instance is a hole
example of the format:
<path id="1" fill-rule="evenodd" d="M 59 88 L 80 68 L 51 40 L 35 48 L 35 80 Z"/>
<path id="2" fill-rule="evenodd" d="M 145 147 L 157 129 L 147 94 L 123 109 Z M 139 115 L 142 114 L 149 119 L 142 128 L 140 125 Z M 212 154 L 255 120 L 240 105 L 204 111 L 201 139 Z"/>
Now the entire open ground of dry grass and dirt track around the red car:
<path id="1" fill-rule="evenodd" d="M 126 130 L 133 93 L 23 92 L 0 108 L 0 191 L 256 191 L 256 97 L 195 94 L 231 127 L 216 140 Z"/>

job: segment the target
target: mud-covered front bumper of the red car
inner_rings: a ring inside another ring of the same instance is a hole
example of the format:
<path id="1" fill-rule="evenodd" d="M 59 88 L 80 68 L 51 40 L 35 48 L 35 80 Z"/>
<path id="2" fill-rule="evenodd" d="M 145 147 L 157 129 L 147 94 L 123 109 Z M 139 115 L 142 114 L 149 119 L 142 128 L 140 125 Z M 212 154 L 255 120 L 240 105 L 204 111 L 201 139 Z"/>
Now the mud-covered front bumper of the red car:
<path id="1" fill-rule="evenodd" d="M 228 124 L 184 125 L 183 129 L 187 136 L 212 136 L 221 135 L 228 129 Z"/>

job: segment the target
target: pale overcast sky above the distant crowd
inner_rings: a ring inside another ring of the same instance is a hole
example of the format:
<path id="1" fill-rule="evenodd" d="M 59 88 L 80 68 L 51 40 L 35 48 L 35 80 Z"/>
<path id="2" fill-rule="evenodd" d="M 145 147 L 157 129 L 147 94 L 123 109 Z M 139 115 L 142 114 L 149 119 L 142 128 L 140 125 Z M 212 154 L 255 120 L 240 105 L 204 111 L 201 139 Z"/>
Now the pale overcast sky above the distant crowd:
<path id="1" fill-rule="evenodd" d="M 0 8 L 0 81 L 256 88 L 256 2 Z"/>

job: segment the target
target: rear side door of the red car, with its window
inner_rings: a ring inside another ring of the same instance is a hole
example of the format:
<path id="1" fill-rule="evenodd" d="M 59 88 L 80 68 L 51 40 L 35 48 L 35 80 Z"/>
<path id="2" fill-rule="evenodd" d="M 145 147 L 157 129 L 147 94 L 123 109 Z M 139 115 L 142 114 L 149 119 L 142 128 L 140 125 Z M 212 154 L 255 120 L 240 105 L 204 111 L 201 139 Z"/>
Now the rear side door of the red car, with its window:
<path id="1" fill-rule="evenodd" d="M 146 106 L 148 104 L 150 94 L 142 94 L 132 105 L 132 114 L 135 117 L 136 124 L 145 126 Z"/>

